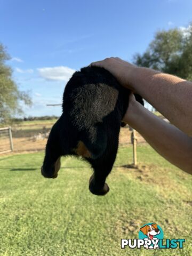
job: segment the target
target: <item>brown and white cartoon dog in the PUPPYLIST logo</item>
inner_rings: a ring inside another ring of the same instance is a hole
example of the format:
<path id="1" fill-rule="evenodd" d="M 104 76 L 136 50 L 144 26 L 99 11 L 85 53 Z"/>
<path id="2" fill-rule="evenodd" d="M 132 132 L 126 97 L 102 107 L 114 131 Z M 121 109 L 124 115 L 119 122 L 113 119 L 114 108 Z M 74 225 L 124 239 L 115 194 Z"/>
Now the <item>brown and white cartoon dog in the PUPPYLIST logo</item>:
<path id="1" fill-rule="evenodd" d="M 160 232 L 161 232 L 158 229 L 157 224 L 151 223 L 151 225 L 145 225 L 144 227 L 140 228 L 140 231 L 148 237 L 148 238 L 144 238 L 146 243 L 143 247 L 145 247 L 146 249 L 157 249 L 158 244 L 154 244 L 154 246 L 152 246 L 152 245 L 148 246 L 148 243 L 147 243 L 148 240 L 153 240 L 153 241 L 157 240 L 157 238 L 154 236 L 160 234 Z M 149 243 L 149 244 L 151 244 L 151 243 Z"/>

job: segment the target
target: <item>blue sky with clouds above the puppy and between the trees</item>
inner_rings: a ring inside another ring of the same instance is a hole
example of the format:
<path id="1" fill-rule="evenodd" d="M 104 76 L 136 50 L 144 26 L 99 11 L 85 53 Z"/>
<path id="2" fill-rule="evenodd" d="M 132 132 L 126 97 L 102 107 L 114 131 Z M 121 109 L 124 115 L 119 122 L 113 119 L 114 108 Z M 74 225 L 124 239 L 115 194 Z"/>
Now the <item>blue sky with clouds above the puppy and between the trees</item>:
<path id="1" fill-rule="evenodd" d="M 157 30 L 186 27 L 191 13 L 191 0 L 0 0 L 0 42 L 34 102 L 26 116 L 59 116 L 46 104 L 61 103 L 75 70 L 111 56 L 132 61 Z"/>

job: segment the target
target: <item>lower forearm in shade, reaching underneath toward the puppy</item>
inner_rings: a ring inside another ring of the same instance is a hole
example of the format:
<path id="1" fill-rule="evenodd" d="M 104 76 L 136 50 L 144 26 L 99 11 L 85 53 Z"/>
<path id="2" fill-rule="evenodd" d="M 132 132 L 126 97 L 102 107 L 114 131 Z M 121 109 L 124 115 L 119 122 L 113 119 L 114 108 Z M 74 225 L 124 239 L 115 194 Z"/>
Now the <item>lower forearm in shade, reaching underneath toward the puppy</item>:
<path id="1" fill-rule="evenodd" d="M 169 162 L 183 171 L 192 172 L 192 138 L 135 101 L 130 102 L 124 122 L 137 130 Z"/>

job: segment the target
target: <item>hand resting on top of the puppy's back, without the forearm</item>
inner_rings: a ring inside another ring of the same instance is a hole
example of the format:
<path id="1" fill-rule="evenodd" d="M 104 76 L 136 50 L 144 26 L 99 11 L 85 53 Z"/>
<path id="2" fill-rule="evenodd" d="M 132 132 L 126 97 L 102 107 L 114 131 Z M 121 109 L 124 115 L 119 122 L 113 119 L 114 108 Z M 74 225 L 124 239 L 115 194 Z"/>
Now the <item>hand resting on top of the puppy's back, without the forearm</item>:
<path id="1" fill-rule="evenodd" d="M 92 62 L 90 66 L 102 67 L 114 75 L 118 82 L 124 87 L 134 91 L 133 76 L 138 67 L 119 58 L 107 58 L 105 60 Z"/>

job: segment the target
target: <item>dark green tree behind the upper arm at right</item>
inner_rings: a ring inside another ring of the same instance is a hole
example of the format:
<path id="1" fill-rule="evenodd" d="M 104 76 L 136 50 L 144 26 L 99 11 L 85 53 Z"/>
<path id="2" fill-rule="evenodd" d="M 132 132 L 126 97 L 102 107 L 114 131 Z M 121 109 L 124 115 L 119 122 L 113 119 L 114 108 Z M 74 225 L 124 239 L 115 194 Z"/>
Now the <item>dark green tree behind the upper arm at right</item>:
<path id="1" fill-rule="evenodd" d="M 146 52 L 134 56 L 134 63 L 192 81 L 192 23 L 157 31 Z"/>

